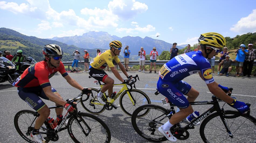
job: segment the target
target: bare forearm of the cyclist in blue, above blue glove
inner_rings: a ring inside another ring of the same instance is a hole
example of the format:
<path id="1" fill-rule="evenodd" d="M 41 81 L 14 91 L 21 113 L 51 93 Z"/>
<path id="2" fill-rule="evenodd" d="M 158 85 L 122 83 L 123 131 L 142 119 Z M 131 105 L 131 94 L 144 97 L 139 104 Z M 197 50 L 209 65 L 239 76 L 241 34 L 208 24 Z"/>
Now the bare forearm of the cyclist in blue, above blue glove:
<path id="1" fill-rule="evenodd" d="M 215 95 L 219 99 L 231 104 L 234 101 L 234 99 L 232 97 L 228 96 L 227 93 L 225 93 L 218 85 L 219 84 L 215 81 L 210 84 L 207 84 L 209 91 L 213 95 Z"/>

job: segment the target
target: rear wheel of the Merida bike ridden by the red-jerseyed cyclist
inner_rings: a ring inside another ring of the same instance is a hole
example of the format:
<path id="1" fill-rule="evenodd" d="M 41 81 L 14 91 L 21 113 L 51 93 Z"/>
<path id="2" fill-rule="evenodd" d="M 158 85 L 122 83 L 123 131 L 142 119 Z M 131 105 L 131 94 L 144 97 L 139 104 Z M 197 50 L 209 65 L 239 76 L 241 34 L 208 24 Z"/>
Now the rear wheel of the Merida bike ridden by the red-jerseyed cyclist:
<path id="1" fill-rule="evenodd" d="M 17 130 L 19 135 L 27 142 L 34 143 L 33 139 L 30 137 L 30 133 L 34 129 L 34 126 L 35 126 L 34 119 L 35 118 L 36 118 L 36 113 L 31 110 L 21 110 L 14 116 L 15 129 Z M 32 122 L 33 122 L 33 124 L 32 124 Z M 32 124 L 32 126 L 30 127 L 31 124 Z M 42 137 L 45 138 L 46 131 L 47 131 L 46 126 L 43 125 L 39 131 L 40 131 Z M 46 141 L 49 142 L 49 139 Z"/>

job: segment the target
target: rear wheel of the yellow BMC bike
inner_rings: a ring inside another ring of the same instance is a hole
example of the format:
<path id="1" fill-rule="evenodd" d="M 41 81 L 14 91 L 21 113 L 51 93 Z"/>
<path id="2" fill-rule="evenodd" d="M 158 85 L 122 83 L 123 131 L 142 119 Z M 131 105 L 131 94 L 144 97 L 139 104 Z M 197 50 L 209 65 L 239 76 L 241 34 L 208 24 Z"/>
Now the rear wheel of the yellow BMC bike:
<path id="1" fill-rule="evenodd" d="M 91 88 L 91 89 L 92 89 L 93 96 L 89 95 L 89 98 L 88 98 L 88 95 L 83 95 L 82 98 L 80 99 L 81 105 L 86 111 L 88 111 L 91 114 L 101 114 L 105 110 L 105 107 L 103 105 L 97 105 L 97 104 L 90 103 L 90 101 L 93 100 L 94 97 L 98 94 L 99 90 L 96 88 Z M 88 98 L 85 101 L 83 101 L 84 96 L 86 96 L 85 97 L 86 99 Z M 94 107 L 95 107 L 95 109 L 94 109 Z"/>

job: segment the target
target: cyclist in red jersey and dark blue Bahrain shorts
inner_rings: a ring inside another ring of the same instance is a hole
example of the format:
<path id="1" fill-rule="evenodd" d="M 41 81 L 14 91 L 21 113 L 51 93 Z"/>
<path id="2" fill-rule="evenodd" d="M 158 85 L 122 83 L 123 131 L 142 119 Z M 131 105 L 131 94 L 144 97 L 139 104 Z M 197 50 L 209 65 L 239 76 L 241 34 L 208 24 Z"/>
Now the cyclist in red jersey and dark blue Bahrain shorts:
<path id="1" fill-rule="evenodd" d="M 18 87 L 20 98 L 40 114 L 36 119 L 34 130 L 30 134 L 32 141 L 40 143 L 45 140 L 41 136 L 39 129 L 49 117 L 50 109 L 39 97 L 55 102 L 56 106 L 64 106 L 68 112 L 75 110 L 71 104 L 63 100 L 60 94 L 51 87 L 49 78 L 59 71 L 71 86 L 81 90 L 84 94 L 91 92 L 91 89 L 83 88 L 65 71 L 64 65 L 61 62 L 63 50 L 60 46 L 55 44 L 45 45 L 43 47 L 43 54 L 45 57 L 43 61 L 29 66 L 18 80 L 13 83 Z M 60 116 L 62 115 L 63 108 L 56 108 L 55 111 L 57 116 Z"/>

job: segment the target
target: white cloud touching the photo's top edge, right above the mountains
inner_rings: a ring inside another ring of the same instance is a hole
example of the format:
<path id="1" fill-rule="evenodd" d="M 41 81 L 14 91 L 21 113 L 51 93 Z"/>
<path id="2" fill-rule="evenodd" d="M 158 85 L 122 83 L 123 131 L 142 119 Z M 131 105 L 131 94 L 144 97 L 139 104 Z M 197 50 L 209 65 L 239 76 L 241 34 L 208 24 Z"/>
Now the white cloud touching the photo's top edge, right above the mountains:
<path id="1" fill-rule="evenodd" d="M 133 18 L 138 13 L 147 11 L 148 6 L 145 3 L 135 0 L 113 0 L 108 4 L 110 12 L 124 20 Z"/>

